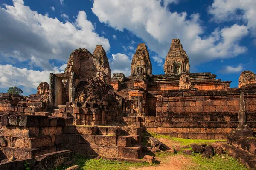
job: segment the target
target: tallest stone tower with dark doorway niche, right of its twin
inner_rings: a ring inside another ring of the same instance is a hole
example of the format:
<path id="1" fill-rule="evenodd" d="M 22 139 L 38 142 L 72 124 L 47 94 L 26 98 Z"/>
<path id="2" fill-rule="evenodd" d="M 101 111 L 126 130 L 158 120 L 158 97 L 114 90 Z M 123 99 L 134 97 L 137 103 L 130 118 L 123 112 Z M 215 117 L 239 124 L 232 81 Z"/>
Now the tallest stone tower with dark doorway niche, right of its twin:
<path id="1" fill-rule="evenodd" d="M 183 50 L 179 39 L 172 39 L 163 69 L 165 74 L 189 73 L 189 57 Z"/>

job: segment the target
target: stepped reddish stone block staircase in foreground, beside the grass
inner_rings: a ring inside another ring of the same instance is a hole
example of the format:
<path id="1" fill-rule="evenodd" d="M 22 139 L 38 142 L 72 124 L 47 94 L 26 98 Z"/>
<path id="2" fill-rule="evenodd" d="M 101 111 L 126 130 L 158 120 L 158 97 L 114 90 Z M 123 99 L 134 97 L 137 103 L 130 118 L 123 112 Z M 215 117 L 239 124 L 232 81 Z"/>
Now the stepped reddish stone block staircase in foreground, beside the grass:
<path id="1" fill-rule="evenodd" d="M 107 158 L 140 159 L 142 127 L 66 126 L 60 150 Z"/>

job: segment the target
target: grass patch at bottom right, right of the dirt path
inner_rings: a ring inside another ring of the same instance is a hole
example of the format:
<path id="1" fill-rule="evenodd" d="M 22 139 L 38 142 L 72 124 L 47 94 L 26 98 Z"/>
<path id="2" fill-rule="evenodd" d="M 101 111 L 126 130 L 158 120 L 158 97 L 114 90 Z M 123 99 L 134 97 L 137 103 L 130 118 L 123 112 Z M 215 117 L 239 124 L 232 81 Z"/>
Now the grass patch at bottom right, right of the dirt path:
<path id="1" fill-rule="evenodd" d="M 214 159 L 203 158 L 201 154 L 198 153 L 186 156 L 197 164 L 196 166 L 188 167 L 188 170 L 248 170 L 232 157 L 228 155 L 222 156 L 225 156 L 228 161 L 225 161 L 225 159 L 222 159 L 218 155 L 214 156 Z"/>

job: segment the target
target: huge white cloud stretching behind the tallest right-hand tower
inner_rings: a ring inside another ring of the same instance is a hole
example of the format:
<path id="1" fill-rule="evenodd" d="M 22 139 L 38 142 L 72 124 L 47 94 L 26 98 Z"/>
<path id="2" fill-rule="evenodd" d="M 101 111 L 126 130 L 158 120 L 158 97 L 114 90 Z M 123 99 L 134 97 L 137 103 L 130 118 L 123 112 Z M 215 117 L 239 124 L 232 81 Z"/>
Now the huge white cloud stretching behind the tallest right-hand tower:
<path id="1" fill-rule="evenodd" d="M 143 39 L 148 48 L 162 58 L 166 57 L 172 39 L 179 38 L 192 66 L 218 58 L 235 57 L 247 50 L 239 45 L 239 40 L 248 34 L 246 26 L 235 24 L 216 28 L 206 35 L 198 13 L 188 16 L 186 12 L 170 12 L 161 2 L 94 0 L 92 11 L 100 22 L 119 31 L 127 29 Z M 166 1 L 170 2 L 175 1 Z"/>

